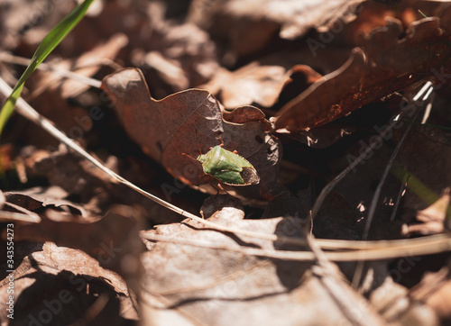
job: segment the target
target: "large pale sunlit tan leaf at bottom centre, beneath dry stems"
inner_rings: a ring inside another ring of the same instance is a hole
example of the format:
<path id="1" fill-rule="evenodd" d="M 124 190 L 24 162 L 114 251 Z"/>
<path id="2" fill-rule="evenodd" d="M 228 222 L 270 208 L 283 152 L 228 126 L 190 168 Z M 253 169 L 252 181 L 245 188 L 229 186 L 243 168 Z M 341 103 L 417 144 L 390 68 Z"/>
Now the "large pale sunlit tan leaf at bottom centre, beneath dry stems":
<path id="1" fill-rule="evenodd" d="M 214 202 L 216 199 L 212 199 Z M 217 200 L 222 200 L 217 197 Z M 220 203 L 207 206 L 219 208 Z M 290 218 L 242 220 L 240 209 L 226 201 L 209 221 L 242 230 L 300 237 L 303 226 Z M 206 208 L 207 209 L 207 208 Z M 234 213 L 235 212 L 235 213 Z M 195 222 L 158 226 L 143 234 L 162 236 L 174 243 L 146 240 L 150 249 L 143 256 L 143 322 L 155 325 L 170 322 L 185 325 L 302 324 L 321 322 L 350 325 L 365 316 L 366 324 L 382 321 L 339 275 L 322 274 L 310 262 L 271 260 L 239 252 L 208 249 L 208 243 L 239 249 L 292 249 L 286 244 L 245 240 L 217 231 L 198 231 Z M 177 243 L 189 240 L 203 247 Z M 334 289 L 329 288 L 333 286 Z M 339 297 L 336 297 L 336 291 Z M 341 303 L 353 303 L 360 316 L 346 315 Z M 327 314 L 324 314 L 327 311 Z M 355 319 L 354 319 L 355 318 Z"/>

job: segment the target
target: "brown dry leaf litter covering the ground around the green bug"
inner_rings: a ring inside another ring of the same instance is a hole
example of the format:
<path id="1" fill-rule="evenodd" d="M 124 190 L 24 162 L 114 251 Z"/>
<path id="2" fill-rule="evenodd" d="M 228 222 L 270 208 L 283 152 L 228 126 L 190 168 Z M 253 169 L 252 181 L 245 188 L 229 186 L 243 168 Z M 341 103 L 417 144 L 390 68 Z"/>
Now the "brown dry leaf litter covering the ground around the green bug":
<path id="1" fill-rule="evenodd" d="M 75 297 L 57 324 L 449 321 L 438 299 L 449 294 L 449 6 L 344 3 L 193 1 L 171 12 L 135 1 L 87 17 L 53 62 L 94 59 L 86 76 L 105 93 L 60 77 L 42 91 L 46 72 L 24 96 L 97 160 L 42 132 L 18 132 L 28 131 L 18 116 L 2 144 L 14 317 L 29 323 L 46 303 Z M 3 50 L 31 56 L 33 32 L 50 21 L 23 35 L 11 22 L 1 26 L 11 36 Z M 115 63 L 98 66 L 106 57 Z M 0 77 L 13 83 L 16 67 L 4 60 Z M 428 81 L 432 96 L 419 93 Z M 216 195 L 187 155 L 222 142 L 253 164 L 259 185 Z M 175 213 L 117 183 L 158 195 Z M 200 206 L 206 220 L 193 214 Z M 373 208 L 371 241 L 354 241 L 365 239 Z"/>

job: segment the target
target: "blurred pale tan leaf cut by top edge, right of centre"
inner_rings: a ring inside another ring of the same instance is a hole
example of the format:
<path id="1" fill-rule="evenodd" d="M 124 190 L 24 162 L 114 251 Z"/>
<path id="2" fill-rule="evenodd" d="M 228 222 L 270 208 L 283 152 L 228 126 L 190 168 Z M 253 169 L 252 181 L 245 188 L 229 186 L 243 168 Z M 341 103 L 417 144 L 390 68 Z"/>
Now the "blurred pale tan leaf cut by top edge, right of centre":
<path id="1" fill-rule="evenodd" d="M 312 28 L 327 31 L 336 20 L 354 19 L 354 9 L 361 0 L 320 1 L 253 1 L 198 0 L 191 4 L 189 20 L 208 28 L 213 33 L 230 34 L 235 50 L 249 54 L 261 50 L 273 34 L 282 39 L 296 39 Z M 343 22 L 342 22 L 343 23 Z M 221 29 L 223 26 L 234 29 Z M 246 44 L 247 41 L 247 44 Z M 245 52 L 240 48 L 248 49 Z"/>

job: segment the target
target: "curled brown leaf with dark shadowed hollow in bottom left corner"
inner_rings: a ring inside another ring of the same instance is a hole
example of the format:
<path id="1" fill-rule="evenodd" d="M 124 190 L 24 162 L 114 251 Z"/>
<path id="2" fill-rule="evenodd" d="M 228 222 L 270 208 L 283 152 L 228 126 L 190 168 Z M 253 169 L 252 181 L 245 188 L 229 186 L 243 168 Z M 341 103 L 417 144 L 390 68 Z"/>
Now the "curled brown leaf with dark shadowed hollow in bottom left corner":
<path id="1" fill-rule="evenodd" d="M 15 232 L 14 234 L 20 233 Z M 78 234 L 79 236 L 80 234 Z M 78 238 L 79 242 L 79 238 Z M 5 242 L 2 247 L 6 248 Z M 3 252 L 5 253 L 5 252 Z M 15 270 L 0 285 L 2 321 L 8 321 L 8 286 L 14 277 L 14 322 L 17 325 L 128 324 L 138 320 L 127 284 L 78 249 L 52 242 L 15 242 Z M 8 278 L 9 277 L 9 278 Z M 93 313 L 94 312 L 94 313 Z M 51 318 L 51 319 L 49 319 Z"/>

